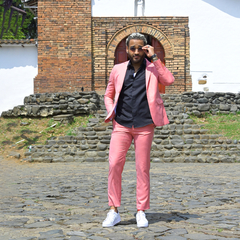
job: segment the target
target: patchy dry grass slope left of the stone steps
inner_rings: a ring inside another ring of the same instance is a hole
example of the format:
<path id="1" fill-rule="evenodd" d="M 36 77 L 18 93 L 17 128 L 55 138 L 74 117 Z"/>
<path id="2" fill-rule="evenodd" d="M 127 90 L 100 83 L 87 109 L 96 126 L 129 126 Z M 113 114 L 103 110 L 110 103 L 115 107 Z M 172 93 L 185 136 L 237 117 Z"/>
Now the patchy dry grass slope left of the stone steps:
<path id="1" fill-rule="evenodd" d="M 90 118 L 93 115 L 77 116 L 70 124 L 53 118 L 0 118 L 0 155 L 14 149 L 23 153 L 30 145 L 45 144 L 52 137 L 75 136 L 74 129 L 86 127 Z M 23 122 L 27 125 L 22 125 Z"/>

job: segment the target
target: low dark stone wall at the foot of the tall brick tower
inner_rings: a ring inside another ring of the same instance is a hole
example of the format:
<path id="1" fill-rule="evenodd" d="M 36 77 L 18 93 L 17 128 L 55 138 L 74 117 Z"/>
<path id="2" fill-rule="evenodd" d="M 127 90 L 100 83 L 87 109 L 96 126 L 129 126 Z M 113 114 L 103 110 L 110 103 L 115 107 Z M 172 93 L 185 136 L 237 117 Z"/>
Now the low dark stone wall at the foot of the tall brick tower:
<path id="1" fill-rule="evenodd" d="M 100 109 L 95 92 L 43 93 L 24 98 L 24 105 L 4 111 L 1 117 L 49 117 L 62 114 L 86 115 Z"/>

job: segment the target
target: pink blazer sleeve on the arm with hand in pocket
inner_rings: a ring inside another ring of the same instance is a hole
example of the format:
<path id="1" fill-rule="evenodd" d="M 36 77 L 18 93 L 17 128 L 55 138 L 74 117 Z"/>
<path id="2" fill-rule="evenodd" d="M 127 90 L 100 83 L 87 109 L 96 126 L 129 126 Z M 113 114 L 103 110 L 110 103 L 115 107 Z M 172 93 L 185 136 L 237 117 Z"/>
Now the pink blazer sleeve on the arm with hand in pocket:
<path id="1" fill-rule="evenodd" d="M 113 67 L 111 71 L 107 89 L 104 94 L 104 103 L 108 113 L 113 109 L 113 105 L 114 105 L 114 96 L 115 96 L 114 76 L 115 76 L 115 67 Z"/>

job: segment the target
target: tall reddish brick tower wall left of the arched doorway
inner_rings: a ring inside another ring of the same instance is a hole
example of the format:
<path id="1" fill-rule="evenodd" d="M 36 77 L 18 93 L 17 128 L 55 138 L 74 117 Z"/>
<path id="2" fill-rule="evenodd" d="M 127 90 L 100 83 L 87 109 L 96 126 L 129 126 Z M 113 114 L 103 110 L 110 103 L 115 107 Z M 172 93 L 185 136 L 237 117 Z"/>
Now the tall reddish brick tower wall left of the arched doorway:
<path id="1" fill-rule="evenodd" d="M 90 91 L 91 0 L 38 0 L 34 92 Z"/>

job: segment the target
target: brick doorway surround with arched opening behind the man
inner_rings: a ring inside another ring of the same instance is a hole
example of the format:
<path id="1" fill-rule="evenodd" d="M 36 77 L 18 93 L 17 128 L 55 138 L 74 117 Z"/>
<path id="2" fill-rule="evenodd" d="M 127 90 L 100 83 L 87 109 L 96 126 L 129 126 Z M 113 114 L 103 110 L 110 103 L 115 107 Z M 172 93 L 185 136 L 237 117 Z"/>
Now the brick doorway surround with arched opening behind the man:
<path id="1" fill-rule="evenodd" d="M 175 76 L 174 84 L 166 87 L 166 93 L 192 90 L 187 17 L 94 17 L 92 55 L 95 91 L 105 89 L 117 45 L 132 32 L 151 35 L 163 45 L 166 67 Z"/>

